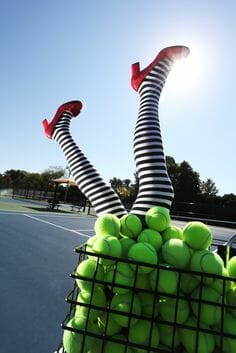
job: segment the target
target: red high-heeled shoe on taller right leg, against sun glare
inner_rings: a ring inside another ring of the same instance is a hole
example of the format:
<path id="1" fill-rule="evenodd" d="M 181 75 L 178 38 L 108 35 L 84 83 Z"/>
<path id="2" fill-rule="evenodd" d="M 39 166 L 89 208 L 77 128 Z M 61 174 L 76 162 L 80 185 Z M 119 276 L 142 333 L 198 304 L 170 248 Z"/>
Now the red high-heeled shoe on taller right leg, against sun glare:
<path id="1" fill-rule="evenodd" d="M 167 47 L 160 51 L 156 56 L 153 62 L 140 71 L 139 62 L 132 65 L 132 77 L 131 77 L 131 86 L 135 91 L 138 90 L 139 86 L 143 82 L 144 78 L 149 74 L 149 72 L 158 64 L 159 61 L 169 58 L 172 60 L 185 58 L 189 54 L 189 48 L 182 45 L 176 45 L 173 47 Z"/>

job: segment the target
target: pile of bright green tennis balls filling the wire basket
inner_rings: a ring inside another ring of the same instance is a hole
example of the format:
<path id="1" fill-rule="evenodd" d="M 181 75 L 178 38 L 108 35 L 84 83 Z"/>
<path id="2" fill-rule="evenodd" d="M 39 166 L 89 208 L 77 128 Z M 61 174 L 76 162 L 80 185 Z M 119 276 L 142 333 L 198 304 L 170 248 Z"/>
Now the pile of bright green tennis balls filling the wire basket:
<path id="1" fill-rule="evenodd" d="M 236 257 L 225 265 L 210 250 L 206 224 L 181 229 L 153 207 L 144 226 L 103 214 L 94 229 L 75 270 L 67 353 L 236 352 Z"/>

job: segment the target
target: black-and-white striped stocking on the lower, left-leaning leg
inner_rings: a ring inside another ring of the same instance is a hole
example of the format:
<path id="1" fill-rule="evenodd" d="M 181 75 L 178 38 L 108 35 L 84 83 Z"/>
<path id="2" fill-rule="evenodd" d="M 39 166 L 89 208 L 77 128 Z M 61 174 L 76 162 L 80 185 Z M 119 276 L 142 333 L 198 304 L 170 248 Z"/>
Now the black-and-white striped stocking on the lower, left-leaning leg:
<path id="1" fill-rule="evenodd" d="M 71 174 L 82 193 L 89 199 L 97 215 L 112 213 L 118 217 L 126 214 L 115 191 L 107 185 L 96 169 L 79 149 L 70 133 L 73 115 L 65 112 L 55 125 L 52 138 L 60 145 Z"/>

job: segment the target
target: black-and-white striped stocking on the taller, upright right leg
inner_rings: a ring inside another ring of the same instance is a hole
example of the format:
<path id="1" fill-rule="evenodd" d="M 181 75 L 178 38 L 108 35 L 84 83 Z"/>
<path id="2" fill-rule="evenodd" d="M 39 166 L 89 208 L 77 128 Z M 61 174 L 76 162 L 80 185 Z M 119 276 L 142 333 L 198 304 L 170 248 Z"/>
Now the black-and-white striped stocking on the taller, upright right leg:
<path id="1" fill-rule="evenodd" d="M 139 192 L 131 213 L 145 215 L 149 208 L 170 209 L 174 190 L 167 174 L 158 106 L 162 88 L 173 62 L 161 60 L 138 88 L 140 106 L 134 134 L 134 158 Z"/>

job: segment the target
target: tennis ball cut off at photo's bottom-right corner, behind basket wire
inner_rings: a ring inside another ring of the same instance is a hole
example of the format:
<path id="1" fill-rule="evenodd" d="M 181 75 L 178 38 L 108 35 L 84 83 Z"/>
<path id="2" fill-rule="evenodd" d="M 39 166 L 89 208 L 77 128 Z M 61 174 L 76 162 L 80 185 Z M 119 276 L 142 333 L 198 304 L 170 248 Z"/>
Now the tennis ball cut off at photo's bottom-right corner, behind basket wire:
<path id="1" fill-rule="evenodd" d="M 219 332 L 221 332 L 221 322 L 219 324 Z M 236 352 L 236 318 L 229 313 L 224 314 L 223 320 L 223 335 L 231 334 L 234 337 L 223 336 L 222 347 L 221 347 L 221 336 L 216 336 L 216 345 L 220 348 L 221 352 L 224 353 L 235 353 Z"/>

